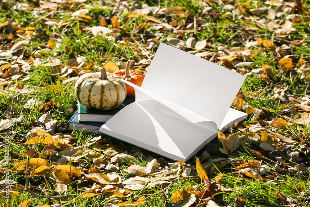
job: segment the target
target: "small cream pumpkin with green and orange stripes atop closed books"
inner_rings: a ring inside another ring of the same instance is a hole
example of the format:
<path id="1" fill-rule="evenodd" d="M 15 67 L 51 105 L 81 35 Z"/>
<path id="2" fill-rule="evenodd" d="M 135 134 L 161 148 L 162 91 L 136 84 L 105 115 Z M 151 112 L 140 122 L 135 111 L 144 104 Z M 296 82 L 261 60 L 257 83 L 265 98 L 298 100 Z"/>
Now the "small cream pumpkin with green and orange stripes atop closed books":
<path id="1" fill-rule="evenodd" d="M 126 85 L 104 68 L 98 73 L 86 73 L 75 83 L 75 96 L 88 107 L 111 110 L 121 105 L 126 97 Z"/>

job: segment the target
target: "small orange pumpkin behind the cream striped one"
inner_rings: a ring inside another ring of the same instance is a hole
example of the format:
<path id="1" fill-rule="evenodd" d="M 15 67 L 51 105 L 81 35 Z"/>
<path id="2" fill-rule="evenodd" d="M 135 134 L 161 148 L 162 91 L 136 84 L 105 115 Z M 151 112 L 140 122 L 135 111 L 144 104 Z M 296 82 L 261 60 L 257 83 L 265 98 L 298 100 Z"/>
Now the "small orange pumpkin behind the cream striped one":
<path id="1" fill-rule="evenodd" d="M 113 74 L 121 79 L 127 80 L 137 86 L 141 86 L 144 75 L 136 70 L 129 70 L 131 61 L 126 64 L 126 69 L 117 70 Z M 135 96 L 135 89 L 126 84 L 127 96 Z"/>

